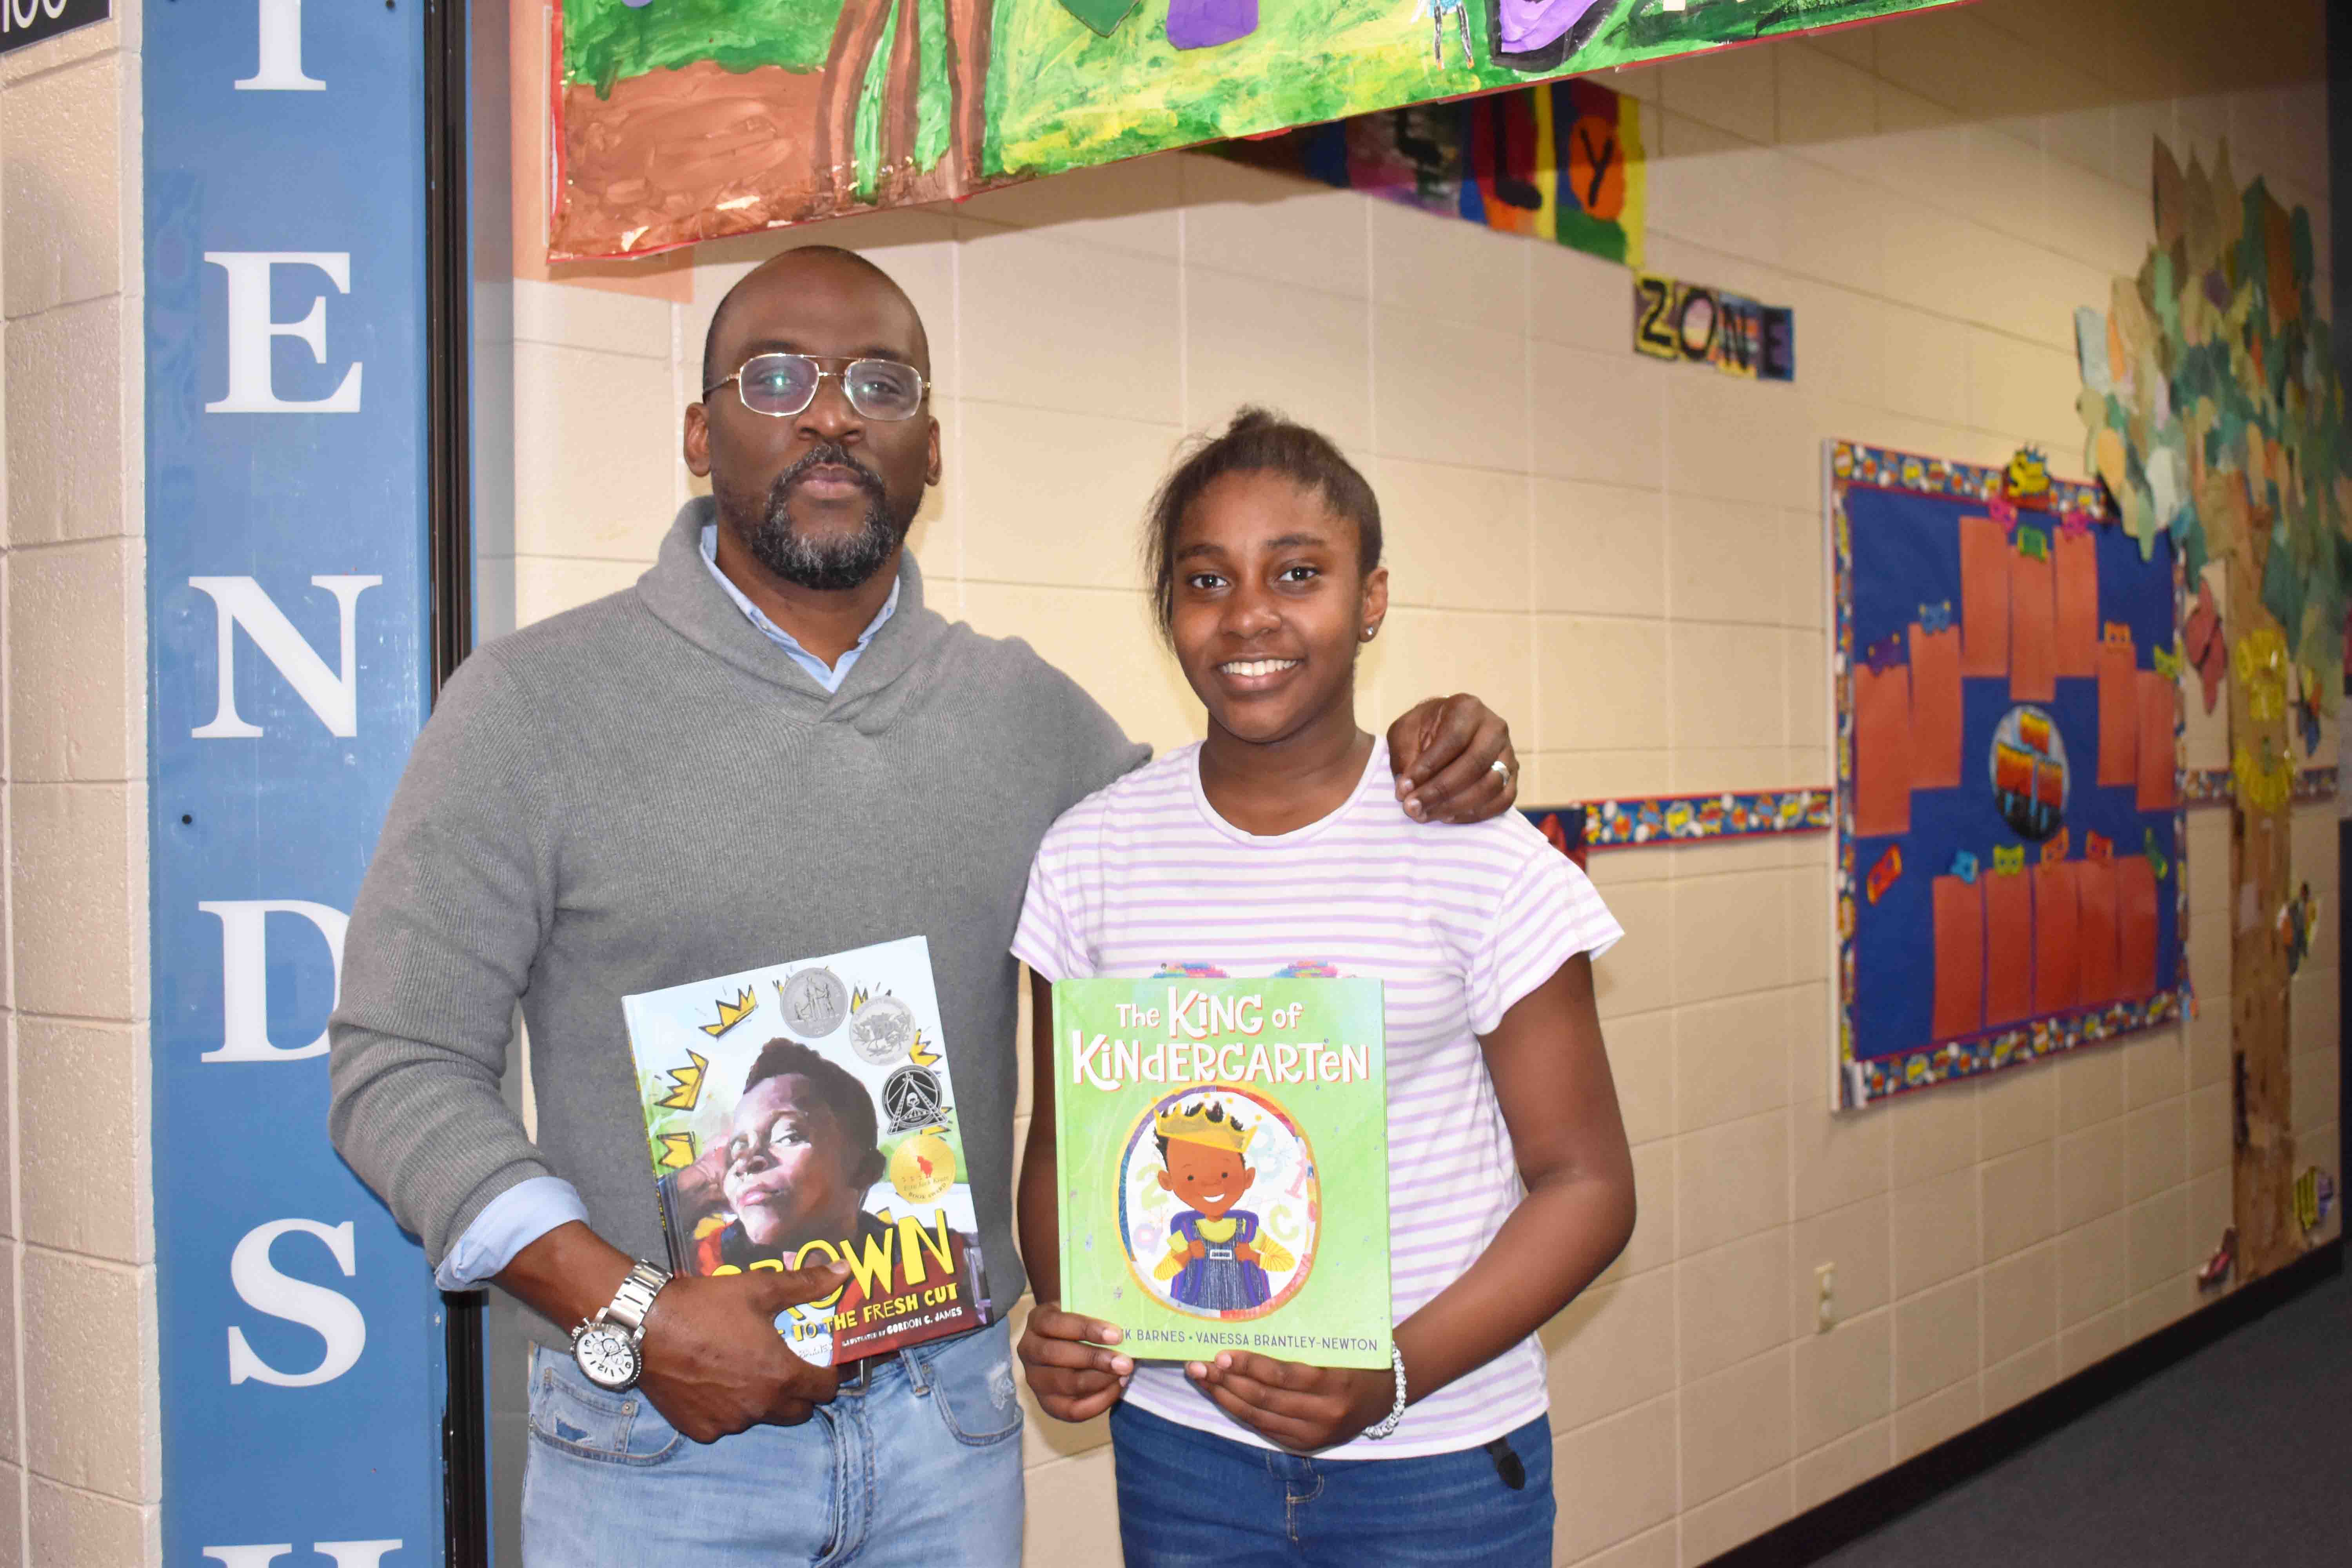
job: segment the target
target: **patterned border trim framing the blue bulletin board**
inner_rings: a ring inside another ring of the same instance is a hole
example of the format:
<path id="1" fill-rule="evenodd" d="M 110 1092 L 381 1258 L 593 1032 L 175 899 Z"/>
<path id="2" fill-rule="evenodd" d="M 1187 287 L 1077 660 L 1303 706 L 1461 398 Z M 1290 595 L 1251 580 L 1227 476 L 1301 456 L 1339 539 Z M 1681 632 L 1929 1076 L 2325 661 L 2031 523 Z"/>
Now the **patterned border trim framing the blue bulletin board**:
<path id="1" fill-rule="evenodd" d="M 1893 1056 L 1853 1056 L 1853 900 L 1858 879 L 1853 865 L 1853 527 L 1846 520 L 1846 489 L 1900 489 L 1922 496 L 1952 496 L 1959 501 L 1990 501 L 2002 494 L 2002 470 L 1978 463 L 1952 463 L 1907 451 L 1884 451 L 1856 442 L 1823 442 L 1828 468 L 1830 505 L 1830 564 L 1835 571 L 1832 599 L 1837 607 L 1837 642 L 1832 644 L 1832 675 L 1837 689 L 1837 1103 L 1839 1110 L 1860 1110 L 1872 1100 L 1950 1084 L 1952 1079 L 2016 1067 L 2042 1056 L 2091 1046 L 2117 1034 L 2152 1030 L 2185 1018 L 2194 1006 L 2187 976 L 2190 947 L 2190 879 L 2187 856 L 2173 853 L 2173 933 L 2180 959 L 2176 973 L 2180 985 L 2136 1001 L 2112 1001 L 2107 1006 L 2053 1013 L 2027 1023 L 1987 1030 L 1969 1039 L 1940 1041 L 1900 1051 Z M 2103 515 L 2105 503 L 2096 484 L 2079 480 L 2051 480 L 2051 512 L 2084 510 Z M 2180 557 L 2173 555 L 2173 625 L 2187 614 L 2187 585 Z M 2180 703 L 2173 703 L 2173 849 L 2187 844 L 2187 724 Z M 2333 769 L 2312 769 L 2333 773 Z M 2300 783 L 2300 778 L 2298 778 Z"/>

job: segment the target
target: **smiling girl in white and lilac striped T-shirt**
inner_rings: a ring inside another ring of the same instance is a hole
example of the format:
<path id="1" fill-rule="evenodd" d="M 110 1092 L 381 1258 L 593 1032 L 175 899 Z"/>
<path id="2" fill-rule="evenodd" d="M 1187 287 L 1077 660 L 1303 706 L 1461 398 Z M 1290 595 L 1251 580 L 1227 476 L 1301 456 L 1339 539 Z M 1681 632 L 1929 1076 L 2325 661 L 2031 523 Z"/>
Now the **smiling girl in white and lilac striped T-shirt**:
<path id="1" fill-rule="evenodd" d="M 1061 1420 L 1110 1410 L 1129 1568 L 1538 1568 L 1534 1335 L 1632 1234 L 1592 1013 L 1618 924 L 1524 818 L 1425 827 L 1397 806 L 1355 722 L 1355 656 L 1388 614 L 1381 505 L 1329 440 L 1244 409 L 1162 484 L 1148 552 L 1209 738 L 1073 806 L 1030 867 L 1030 1387 Z M 1049 987 L 1169 966 L 1385 983 L 1395 1366 L 1138 1366 L 1117 1328 L 1058 1309 Z"/>

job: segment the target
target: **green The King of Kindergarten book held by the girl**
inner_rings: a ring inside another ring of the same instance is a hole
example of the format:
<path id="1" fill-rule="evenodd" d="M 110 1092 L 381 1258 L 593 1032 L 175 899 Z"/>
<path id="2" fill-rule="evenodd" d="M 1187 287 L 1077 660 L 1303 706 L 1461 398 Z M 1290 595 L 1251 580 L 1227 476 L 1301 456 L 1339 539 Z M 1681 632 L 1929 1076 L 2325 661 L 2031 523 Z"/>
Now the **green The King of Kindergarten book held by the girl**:
<path id="1" fill-rule="evenodd" d="M 1058 980 L 1061 1305 L 1122 1349 L 1388 1366 L 1378 980 Z"/>

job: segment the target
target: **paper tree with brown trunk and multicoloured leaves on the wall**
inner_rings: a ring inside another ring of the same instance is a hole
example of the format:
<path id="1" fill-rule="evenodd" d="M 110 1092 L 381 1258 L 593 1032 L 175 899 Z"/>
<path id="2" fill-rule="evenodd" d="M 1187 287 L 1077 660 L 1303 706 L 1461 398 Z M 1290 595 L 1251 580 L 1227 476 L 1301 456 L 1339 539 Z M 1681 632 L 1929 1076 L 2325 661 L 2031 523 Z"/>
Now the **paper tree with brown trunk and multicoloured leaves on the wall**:
<path id="1" fill-rule="evenodd" d="M 2305 900 L 2293 802 L 2338 705 L 2352 583 L 2352 433 L 2314 294 L 2312 214 L 2230 146 L 2213 165 L 2154 146 L 2157 237 L 2110 308 L 2074 317 L 2086 456 L 2147 552 L 2197 583 L 2185 658 L 2230 719 L 2230 1058 L 2234 1227 L 2213 1281 L 2256 1279 L 2307 1239 L 2293 1222 L 2291 980 Z M 2307 867 L 2305 867 L 2307 870 Z"/>

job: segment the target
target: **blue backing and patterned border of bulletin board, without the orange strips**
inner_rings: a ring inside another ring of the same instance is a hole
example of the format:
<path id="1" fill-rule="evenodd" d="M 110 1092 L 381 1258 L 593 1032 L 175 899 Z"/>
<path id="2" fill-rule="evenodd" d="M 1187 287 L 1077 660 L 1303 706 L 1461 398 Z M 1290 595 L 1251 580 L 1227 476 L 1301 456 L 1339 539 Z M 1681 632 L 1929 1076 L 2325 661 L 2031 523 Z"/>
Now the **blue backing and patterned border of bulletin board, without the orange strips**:
<path id="1" fill-rule="evenodd" d="M 2027 1016 L 1999 1027 L 1938 1039 L 1933 879 L 1955 875 L 1955 860 L 1973 856 L 1976 877 L 1997 875 L 1999 860 L 2027 870 L 2044 846 L 2023 837 L 1999 811 L 1992 790 L 1994 729 L 2016 708 L 2006 677 L 1962 679 L 1959 785 L 1915 788 L 1907 832 L 1863 837 L 1856 832 L 1856 668 L 1872 649 L 1900 663 L 1903 639 L 1915 623 L 1943 604 L 1962 602 L 1959 520 L 1987 515 L 2002 496 L 1997 468 L 1945 463 L 1910 454 L 1837 442 L 1830 447 L 1830 529 L 1837 576 L 1837 914 L 1839 914 L 1839 1103 L 1875 1098 L 2018 1065 L 2143 1030 L 2178 1018 L 2187 1001 L 2183 964 L 2185 898 L 2178 788 L 2178 701 L 2173 703 L 2173 804 L 2140 811 L 2136 783 L 2098 783 L 2098 679 L 2060 675 L 2056 698 L 2037 701 L 2063 738 L 2067 762 L 2065 832 L 2070 856 L 2084 856 L 2089 835 L 2100 835 L 2117 856 L 2145 853 L 2161 865 L 2157 882 L 2154 994 Z M 2067 510 L 2100 510 L 2098 491 L 2058 484 L 2046 522 L 2056 531 Z M 2030 510 L 2027 524 L 2044 522 Z M 2098 550 L 2100 625 L 2131 628 L 2138 665 L 2157 649 L 2171 649 L 2178 625 L 2178 574 L 2169 538 L 2143 559 L 2136 538 L 2112 524 L 2093 524 Z M 1893 642 L 1889 642 L 1893 639 Z M 1900 856 L 1900 872 L 1872 870 L 1886 851 Z M 1997 851 L 2004 851 L 1997 856 Z M 2016 872 L 2009 872 L 2016 875 Z M 1987 947 L 1990 957 L 1990 947 Z"/>

